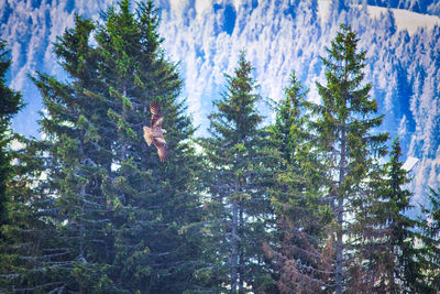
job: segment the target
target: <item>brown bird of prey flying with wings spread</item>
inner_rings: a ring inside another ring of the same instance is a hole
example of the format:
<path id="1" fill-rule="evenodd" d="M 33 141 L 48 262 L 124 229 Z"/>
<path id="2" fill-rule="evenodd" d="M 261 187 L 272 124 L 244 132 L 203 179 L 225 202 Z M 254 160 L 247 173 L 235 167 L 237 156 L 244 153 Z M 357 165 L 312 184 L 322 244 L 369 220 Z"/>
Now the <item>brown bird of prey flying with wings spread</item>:
<path id="1" fill-rule="evenodd" d="M 164 162 L 168 157 L 168 146 L 164 139 L 164 133 L 166 133 L 166 130 L 162 129 L 162 121 L 164 118 L 161 113 L 161 107 L 156 101 L 150 104 L 150 110 L 153 113 L 151 128 L 144 127 L 144 139 L 148 146 L 152 142 L 154 143 L 161 162 Z"/>

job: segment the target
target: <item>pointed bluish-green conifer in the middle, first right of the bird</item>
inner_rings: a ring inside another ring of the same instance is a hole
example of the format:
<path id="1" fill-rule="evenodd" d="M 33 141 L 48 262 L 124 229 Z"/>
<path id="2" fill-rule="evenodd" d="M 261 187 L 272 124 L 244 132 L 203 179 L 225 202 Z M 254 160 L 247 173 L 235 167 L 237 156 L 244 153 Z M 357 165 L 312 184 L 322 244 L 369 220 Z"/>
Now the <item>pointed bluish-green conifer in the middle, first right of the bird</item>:
<path id="1" fill-rule="evenodd" d="M 210 134 L 204 140 L 212 173 L 209 186 L 213 216 L 213 238 L 221 240 L 218 265 L 224 285 L 231 293 L 244 293 L 248 287 L 263 291 L 273 285 L 262 251 L 271 226 L 267 192 L 271 153 L 266 134 L 260 128 L 262 117 L 256 111 L 261 97 L 251 77 L 251 64 L 241 52 L 234 75 L 226 75 L 228 90 L 215 101 L 218 111 L 210 115 Z M 227 255 L 226 255 L 227 254 Z"/>

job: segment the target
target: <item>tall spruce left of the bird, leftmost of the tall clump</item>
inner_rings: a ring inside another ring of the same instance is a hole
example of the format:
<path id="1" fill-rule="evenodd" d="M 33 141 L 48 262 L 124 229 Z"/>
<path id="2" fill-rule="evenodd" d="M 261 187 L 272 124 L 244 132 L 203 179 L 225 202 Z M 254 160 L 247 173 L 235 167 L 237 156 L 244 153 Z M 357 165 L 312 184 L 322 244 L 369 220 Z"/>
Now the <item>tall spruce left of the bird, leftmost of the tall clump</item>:
<path id="1" fill-rule="evenodd" d="M 102 193 L 102 182 L 110 172 L 111 141 L 106 100 L 97 78 L 97 54 L 88 42 L 95 24 L 76 17 L 74 29 L 66 30 L 55 43 L 55 54 L 70 76 L 59 81 L 47 74 L 32 77 L 40 89 L 46 112 L 40 121 L 45 134 L 47 181 L 56 198 L 54 216 L 59 246 L 70 254 L 65 269 L 57 273 L 66 291 L 119 292 L 111 281 L 113 260 L 111 232 L 112 207 Z"/>

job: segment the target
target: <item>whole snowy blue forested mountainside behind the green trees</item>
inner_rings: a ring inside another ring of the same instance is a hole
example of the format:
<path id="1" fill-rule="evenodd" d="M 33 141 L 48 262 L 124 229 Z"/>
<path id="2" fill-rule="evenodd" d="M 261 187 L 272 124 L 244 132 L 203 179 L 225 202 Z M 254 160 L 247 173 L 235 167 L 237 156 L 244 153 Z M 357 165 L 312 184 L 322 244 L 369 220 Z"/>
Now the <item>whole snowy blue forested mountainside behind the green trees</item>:
<path id="1" fill-rule="evenodd" d="M 0 33 L 12 46 L 11 86 L 23 91 L 26 110 L 14 121 L 15 130 L 36 134 L 40 96 L 26 73 L 38 69 L 63 77 L 51 48 L 75 12 L 96 18 L 110 0 L 7 0 L 0 2 Z M 323 81 L 319 55 L 330 44 L 340 23 L 359 33 L 367 52 L 366 79 L 385 113 L 383 129 L 399 135 L 408 156 L 420 159 L 415 190 L 422 197 L 426 184 L 440 178 L 439 87 L 440 18 L 424 12 L 435 2 L 392 1 L 395 8 L 341 0 L 157 0 L 162 9 L 161 33 L 169 58 L 180 62 L 195 123 L 205 134 L 212 100 L 224 90 L 224 73 L 231 73 L 240 50 L 255 67 L 263 97 L 279 99 L 288 76 L 296 70 L 319 99 L 316 80 Z M 369 1 L 369 3 L 372 1 Z M 396 2 L 396 3 L 394 3 Z M 416 9 L 418 3 L 420 8 Z M 411 6 L 409 6 L 413 3 Z M 414 11 L 403 10 L 409 8 Z M 408 21 L 409 20 L 409 21 Z M 265 104 L 261 111 L 271 118 Z"/>

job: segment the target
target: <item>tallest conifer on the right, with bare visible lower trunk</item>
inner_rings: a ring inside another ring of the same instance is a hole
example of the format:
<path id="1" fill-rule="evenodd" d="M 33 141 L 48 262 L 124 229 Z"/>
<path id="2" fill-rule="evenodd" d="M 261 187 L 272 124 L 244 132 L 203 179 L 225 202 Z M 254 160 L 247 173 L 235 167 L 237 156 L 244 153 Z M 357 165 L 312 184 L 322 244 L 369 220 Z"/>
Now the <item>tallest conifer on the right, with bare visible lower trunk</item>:
<path id="1" fill-rule="evenodd" d="M 317 117 L 314 130 L 317 146 L 328 171 L 327 194 L 332 200 L 338 229 L 336 233 L 336 293 L 344 290 L 344 252 L 348 248 L 346 217 L 355 213 L 362 198 L 362 183 L 375 166 L 373 155 L 383 155 L 387 134 L 373 134 L 382 122 L 377 104 L 369 96 L 370 84 L 362 84 L 365 52 L 358 53 L 359 40 L 350 26 L 341 25 L 321 57 L 327 67 L 327 85 L 317 83 L 321 104 L 312 105 Z"/>

